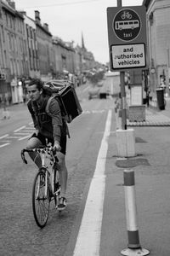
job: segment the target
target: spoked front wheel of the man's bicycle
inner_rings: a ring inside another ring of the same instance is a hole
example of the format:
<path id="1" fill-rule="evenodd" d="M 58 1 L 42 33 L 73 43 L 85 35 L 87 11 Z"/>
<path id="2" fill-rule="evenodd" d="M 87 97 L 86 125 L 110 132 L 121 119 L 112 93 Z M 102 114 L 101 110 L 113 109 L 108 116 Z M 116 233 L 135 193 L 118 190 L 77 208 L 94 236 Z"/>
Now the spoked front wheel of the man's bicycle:
<path id="1" fill-rule="evenodd" d="M 40 228 L 43 228 L 48 221 L 49 204 L 49 189 L 46 189 L 45 173 L 40 171 L 37 172 L 32 188 L 32 210 Z"/>

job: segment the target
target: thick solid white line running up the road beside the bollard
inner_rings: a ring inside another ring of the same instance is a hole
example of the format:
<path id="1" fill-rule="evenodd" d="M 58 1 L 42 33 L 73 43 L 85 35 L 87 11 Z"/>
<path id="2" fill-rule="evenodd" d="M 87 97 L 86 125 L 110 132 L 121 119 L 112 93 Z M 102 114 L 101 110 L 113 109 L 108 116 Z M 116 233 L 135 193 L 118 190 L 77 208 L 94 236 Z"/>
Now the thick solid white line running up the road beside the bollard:
<path id="1" fill-rule="evenodd" d="M 103 204 L 105 198 L 105 161 L 108 138 L 111 131 L 111 109 L 108 112 L 105 132 L 99 148 L 94 177 L 88 191 L 88 198 L 82 216 L 73 256 L 99 256 Z"/>

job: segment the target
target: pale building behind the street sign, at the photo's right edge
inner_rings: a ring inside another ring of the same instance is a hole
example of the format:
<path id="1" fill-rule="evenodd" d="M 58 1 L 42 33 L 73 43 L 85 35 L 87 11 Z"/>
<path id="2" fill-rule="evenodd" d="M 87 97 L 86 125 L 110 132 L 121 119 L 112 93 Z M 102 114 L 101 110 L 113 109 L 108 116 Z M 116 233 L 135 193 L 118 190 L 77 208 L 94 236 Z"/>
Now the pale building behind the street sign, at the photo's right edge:
<path id="1" fill-rule="evenodd" d="M 156 88 L 165 84 L 168 90 L 170 77 L 170 1 L 144 0 L 148 26 L 149 84 Z M 167 91 L 168 92 L 168 91 Z"/>

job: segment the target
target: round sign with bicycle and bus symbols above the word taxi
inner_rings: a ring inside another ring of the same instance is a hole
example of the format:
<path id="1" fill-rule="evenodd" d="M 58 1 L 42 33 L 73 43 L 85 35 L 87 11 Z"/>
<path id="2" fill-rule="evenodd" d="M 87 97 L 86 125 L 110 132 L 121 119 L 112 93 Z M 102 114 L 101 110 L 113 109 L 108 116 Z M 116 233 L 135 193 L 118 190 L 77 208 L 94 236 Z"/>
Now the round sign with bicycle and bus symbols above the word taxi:
<path id="1" fill-rule="evenodd" d="M 137 38 L 140 32 L 139 15 L 132 9 L 122 9 L 116 14 L 112 28 L 117 38 L 126 42 L 131 41 Z"/>

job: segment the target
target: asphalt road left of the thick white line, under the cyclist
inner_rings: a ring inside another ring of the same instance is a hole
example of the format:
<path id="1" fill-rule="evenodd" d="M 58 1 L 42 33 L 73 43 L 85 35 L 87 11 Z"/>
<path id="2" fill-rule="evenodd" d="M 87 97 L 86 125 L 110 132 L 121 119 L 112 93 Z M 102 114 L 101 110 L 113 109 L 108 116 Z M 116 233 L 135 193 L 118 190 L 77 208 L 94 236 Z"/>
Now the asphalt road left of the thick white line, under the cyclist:
<path id="1" fill-rule="evenodd" d="M 10 119 L 0 121 L 0 255 L 64 255 L 71 230 L 78 227 L 77 213 L 94 175 L 108 111 L 114 108 L 110 98 L 88 101 L 88 84 L 82 89 L 81 105 L 82 115 L 69 125 L 68 207 L 60 214 L 52 203 L 43 230 L 37 227 L 31 210 L 31 188 L 37 170 L 29 158 L 27 166 L 20 159 L 20 150 L 33 132 L 30 115 L 20 104 L 10 109 Z"/>

